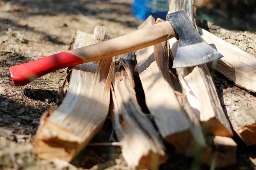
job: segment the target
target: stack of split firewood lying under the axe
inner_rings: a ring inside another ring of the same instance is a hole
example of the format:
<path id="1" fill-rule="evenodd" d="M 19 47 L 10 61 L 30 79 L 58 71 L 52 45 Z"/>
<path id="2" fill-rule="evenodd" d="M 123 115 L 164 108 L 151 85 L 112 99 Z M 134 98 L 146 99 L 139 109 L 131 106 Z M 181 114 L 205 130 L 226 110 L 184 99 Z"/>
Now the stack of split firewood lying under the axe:
<path id="1" fill-rule="evenodd" d="M 194 21 L 192 0 L 169 2 L 169 13 L 183 9 Z M 150 16 L 138 29 L 157 22 L 162 20 Z M 109 40 L 105 30 L 105 26 L 97 26 L 94 34 L 76 31 L 69 49 Z M 208 66 L 237 86 L 256 92 L 256 58 L 204 29 L 198 31 L 223 58 L 209 65 L 172 70 L 177 50 L 177 40 L 173 38 L 121 56 L 74 66 L 61 104 L 41 118 L 35 140 L 38 156 L 71 161 L 111 113 L 122 156 L 131 168 L 156 169 L 163 164 L 169 157 L 163 141 L 172 144 L 177 153 L 197 156 L 204 164 L 234 164 L 237 144 L 233 133 L 247 145 L 256 144 L 256 113 L 245 115 L 234 110 L 233 116 L 227 118 Z M 140 77 L 151 116 L 145 115 L 137 102 L 134 74 Z M 212 142 L 206 142 L 209 137 Z"/>

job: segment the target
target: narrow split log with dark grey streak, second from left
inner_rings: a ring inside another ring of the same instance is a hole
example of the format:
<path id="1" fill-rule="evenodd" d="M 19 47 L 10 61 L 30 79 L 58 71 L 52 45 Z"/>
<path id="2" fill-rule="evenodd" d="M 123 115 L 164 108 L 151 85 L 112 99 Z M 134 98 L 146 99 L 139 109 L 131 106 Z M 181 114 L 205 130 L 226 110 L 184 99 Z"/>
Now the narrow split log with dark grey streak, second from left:
<path id="1" fill-rule="evenodd" d="M 132 169 L 157 169 L 168 156 L 160 136 L 141 111 L 134 91 L 135 55 L 117 59 L 112 81 L 111 117 L 122 145 L 122 155 Z"/>

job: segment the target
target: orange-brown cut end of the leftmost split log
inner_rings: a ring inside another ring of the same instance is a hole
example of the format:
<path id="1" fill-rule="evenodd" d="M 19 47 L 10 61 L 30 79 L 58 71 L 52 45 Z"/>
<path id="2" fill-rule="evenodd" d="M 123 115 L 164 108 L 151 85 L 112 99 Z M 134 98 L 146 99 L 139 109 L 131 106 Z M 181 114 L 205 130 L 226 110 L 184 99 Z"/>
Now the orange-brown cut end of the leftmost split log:
<path id="1" fill-rule="evenodd" d="M 77 137 L 69 130 L 49 122 L 46 119 L 47 116 L 49 116 L 49 111 L 42 116 L 41 125 L 37 130 L 35 139 L 37 156 L 41 159 L 60 158 L 71 161 L 79 146 Z"/>

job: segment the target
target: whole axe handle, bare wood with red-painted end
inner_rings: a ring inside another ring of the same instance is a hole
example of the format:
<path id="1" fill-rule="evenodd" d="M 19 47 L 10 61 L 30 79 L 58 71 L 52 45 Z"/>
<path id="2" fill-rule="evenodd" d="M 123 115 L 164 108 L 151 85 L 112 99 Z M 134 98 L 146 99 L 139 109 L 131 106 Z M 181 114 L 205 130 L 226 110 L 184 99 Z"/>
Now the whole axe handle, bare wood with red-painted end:
<path id="1" fill-rule="evenodd" d="M 166 21 L 130 34 L 74 50 L 53 54 L 9 68 L 15 86 L 23 86 L 52 71 L 136 51 L 175 37 Z"/>

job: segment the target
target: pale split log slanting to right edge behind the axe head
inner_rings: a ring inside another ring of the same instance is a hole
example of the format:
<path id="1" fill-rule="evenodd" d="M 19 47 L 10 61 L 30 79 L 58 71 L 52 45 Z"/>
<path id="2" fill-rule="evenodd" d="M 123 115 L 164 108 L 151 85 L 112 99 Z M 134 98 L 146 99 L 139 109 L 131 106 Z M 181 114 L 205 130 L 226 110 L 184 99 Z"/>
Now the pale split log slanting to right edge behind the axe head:
<path id="1" fill-rule="evenodd" d="M 199 28 L 199 33 L 207 43 L 214 44 L 224 56 L 208 65 L 240 88 L 256 92 L 256 57 L 202 28 Z"/>

